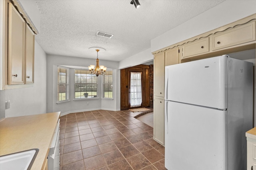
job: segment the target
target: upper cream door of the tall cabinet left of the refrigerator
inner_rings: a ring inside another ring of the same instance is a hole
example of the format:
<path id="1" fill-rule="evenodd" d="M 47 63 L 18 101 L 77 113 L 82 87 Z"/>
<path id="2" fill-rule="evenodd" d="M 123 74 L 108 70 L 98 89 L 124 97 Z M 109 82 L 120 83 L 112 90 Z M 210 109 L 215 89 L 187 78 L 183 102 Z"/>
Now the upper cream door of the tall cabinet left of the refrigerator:
<path id="1" fill-rule="evenodd" d="M 164 52 L 154 55 L 154 96 L 164 97 Z"/>

